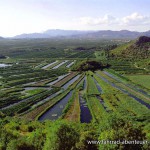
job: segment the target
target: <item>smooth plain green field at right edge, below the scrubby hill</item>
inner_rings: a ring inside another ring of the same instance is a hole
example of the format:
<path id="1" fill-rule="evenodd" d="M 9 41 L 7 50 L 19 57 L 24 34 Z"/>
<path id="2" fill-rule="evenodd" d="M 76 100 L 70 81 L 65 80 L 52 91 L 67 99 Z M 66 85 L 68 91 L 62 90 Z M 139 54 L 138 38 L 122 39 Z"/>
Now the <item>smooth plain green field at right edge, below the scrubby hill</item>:
<path id="1" fill-rule="evenodd" d="M 132 82 L 150 89 L 150 75 L 126 75 Z"/>

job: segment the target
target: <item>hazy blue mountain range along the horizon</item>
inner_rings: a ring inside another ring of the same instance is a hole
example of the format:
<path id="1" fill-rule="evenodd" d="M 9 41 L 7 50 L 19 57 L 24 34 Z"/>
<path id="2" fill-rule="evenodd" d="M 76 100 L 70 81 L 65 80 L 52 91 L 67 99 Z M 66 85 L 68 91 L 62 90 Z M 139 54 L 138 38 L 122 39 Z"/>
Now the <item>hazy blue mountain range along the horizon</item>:
<path id="1" fill-rule="evenodd" d="M 43 33 L 21 34 L 13 38 L 80 38 L 80 39 L 135 39 L 140 36 L 150 36 L 150 31 L 136 32 L 136 31 L 79 31 L 79 30 L 47 30 Z"/>

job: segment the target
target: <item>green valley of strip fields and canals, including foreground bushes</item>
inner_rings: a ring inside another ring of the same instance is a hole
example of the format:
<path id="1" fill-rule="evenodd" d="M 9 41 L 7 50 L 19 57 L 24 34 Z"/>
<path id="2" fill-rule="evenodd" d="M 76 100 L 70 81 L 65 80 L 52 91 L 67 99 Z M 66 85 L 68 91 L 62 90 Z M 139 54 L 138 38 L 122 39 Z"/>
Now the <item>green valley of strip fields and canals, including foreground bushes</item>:
<path id="1" fill-rule="evenodd" d="M 149 66 L 116 59 L 132 42 L 112 52 L 116 44 L 1 41 L 7 59 L 0 59 L 0 149 L 60 149 L 61 138 L 74 141 L 66 150 L 149 149 L 149 144 L 87 144 L 150 140 Z"/>

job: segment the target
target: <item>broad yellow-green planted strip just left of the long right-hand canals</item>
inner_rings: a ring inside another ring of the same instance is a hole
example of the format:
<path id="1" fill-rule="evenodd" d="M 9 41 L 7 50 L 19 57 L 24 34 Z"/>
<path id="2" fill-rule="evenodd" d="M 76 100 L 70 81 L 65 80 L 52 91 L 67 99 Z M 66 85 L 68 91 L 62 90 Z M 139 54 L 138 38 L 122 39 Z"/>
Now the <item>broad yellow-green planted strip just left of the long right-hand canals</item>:
<path id="1" fill-rule="evenodd" d="M 97 76 L 95 76 L 97 78 Z M 103 83 L 102 79 L 98 79 L 97 81 Z M 130 115 L 141 115 L 148 113 L 148 108 L 141 105 L 139 102 L 135 101 L 132 97 L 129 97 L 127 94 L 124 94 L 120 91 L 117 91 L 114 87 L 111 87 L 108 83 L 105 83 L 105 86 L 101 84 L 103 88 L 108 88 L 110 90 L 109 93 L 101 94 L 103 101 L 107 104 L 107 106 L 116 112 L 124 112 Z"/>

